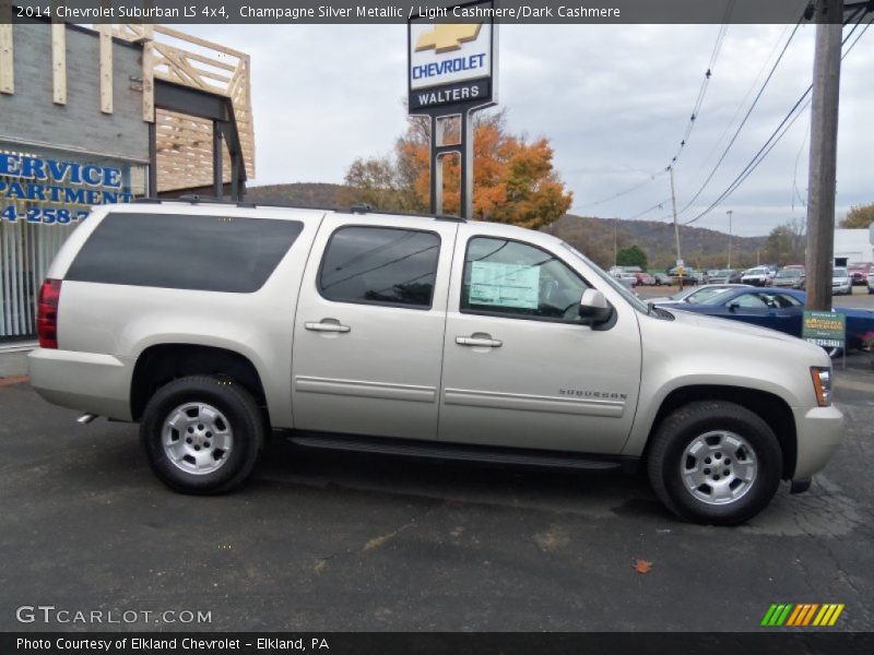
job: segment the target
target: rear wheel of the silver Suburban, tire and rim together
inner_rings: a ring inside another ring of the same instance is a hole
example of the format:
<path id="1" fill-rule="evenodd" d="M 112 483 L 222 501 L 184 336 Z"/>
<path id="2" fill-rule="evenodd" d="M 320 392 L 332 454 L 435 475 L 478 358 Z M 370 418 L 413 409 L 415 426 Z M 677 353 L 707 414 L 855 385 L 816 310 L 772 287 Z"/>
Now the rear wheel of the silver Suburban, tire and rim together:
<path id="1" fill-rule="evenodd" d="M 222 493 L 251 473 L 264 442 L 251 394 L 233 380 L 188 377 L 155 392 L 140 422 L 152 471 L 186 493 Z"/>

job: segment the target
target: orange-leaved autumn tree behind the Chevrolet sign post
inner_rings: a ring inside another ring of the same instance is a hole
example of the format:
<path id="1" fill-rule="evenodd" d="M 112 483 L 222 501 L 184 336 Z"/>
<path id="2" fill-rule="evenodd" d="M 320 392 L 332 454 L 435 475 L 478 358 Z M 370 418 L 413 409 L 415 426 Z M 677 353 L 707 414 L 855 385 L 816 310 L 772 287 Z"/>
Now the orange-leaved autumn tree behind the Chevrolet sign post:
<path id="1" fill-rule="evenodd" d="M 427 118 L 412 117 L 391 157 L 356 159 L 346 172 L 350 196 L 382 210 L 422 211 L 430 193 Z M 510 134 L 503 111 L 477 112 L 473 122 L 473 213 L 476 218 L 529 228 L 548 225 L 570 207 L 572 194 L 553 169 L 546 139 Z M 442 159 L 444 211 L 460 204 L 460 163 Z"/>

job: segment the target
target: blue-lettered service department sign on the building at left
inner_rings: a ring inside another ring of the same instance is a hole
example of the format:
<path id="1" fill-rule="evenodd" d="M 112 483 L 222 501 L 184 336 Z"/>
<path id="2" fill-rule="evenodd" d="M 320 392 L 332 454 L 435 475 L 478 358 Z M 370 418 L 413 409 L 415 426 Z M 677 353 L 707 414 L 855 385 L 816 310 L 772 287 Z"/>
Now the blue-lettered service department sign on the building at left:
<path id="1" fill-rule="evenodd" d="M 93 205 L 131 200 L 120 168 L 0 152 L 2 221 L 63 225 L 84 218 Z"/>

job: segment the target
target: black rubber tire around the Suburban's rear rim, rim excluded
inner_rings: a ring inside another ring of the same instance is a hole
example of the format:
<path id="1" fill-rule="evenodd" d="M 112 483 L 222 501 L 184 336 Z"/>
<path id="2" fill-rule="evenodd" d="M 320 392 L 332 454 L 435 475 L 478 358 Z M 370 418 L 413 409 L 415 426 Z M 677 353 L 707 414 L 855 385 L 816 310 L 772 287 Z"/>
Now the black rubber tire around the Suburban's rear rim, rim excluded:
<path id="1" fill-rule="evenodd" d="M 188 473 L 174 464 L 163 445 L 164 421 L 187 403 L 205 403 L 224 415 L 233 432 L 227 460 L 210 473 Z M 192 376 L 158 389 L 140 421 L 140 441 L 152 471 L 165 485 L 182 493 L 224 493 L 251 474 L 264 444 L 267 426 L 251 394 L 233 380 Z"/>

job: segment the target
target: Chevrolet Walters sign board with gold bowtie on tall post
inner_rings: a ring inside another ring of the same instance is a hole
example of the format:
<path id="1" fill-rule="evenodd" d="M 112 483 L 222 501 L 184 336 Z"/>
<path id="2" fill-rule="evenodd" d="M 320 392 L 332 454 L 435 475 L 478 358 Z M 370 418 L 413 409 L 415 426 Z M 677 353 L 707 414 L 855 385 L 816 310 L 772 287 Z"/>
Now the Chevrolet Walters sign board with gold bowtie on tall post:
<path id="1" fill-rule="evenodd" d="M 440 8 L 408 24 L 410 112 L 489 105 L 495 93 L 494 1 Z M 458 20 L 458 23 L 433 22 Z"/>

